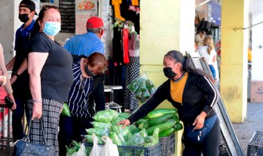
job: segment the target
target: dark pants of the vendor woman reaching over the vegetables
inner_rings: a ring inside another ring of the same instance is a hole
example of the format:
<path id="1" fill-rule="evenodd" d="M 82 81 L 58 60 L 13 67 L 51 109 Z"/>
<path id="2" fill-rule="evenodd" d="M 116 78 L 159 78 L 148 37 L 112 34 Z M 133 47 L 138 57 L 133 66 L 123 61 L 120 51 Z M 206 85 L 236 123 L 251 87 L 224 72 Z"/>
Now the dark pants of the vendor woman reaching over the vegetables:
<path id="1" fill-rule="evenodd" d="M 185 137 L 183 144 L 185 146 L 183 150 L 183 156 L 218 156 L 219 155 L 219 140 L 220 140 L 220 124 L 219 119 L 215 121 L 215 125 L 210 130 L 210 133 L 199 144 L 189 142 Z"/>

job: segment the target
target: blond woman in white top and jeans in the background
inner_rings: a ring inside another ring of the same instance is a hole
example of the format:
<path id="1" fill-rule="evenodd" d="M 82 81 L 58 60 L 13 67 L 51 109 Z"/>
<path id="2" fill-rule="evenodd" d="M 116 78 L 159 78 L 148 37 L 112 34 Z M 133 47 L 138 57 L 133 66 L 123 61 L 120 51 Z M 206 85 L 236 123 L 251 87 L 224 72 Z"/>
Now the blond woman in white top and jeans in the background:
<path id="1" fill-rule="evenodd" d="M 211 36 L 206 36 L 203 39 L 203 46 L 199 46 L 199 55 L 205 57 L 212 72 L 212 77 L 218 79 L 217 52 L 215 51 L 214 41 Z"/>

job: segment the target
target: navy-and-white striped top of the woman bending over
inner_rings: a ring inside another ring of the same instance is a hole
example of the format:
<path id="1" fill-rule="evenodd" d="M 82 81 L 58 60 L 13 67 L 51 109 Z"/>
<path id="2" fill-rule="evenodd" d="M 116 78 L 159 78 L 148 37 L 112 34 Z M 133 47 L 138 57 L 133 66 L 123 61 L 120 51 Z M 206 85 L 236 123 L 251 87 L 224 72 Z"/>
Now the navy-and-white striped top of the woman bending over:
<path id="1" fill-rule="evenodd" d="M 89 95 L 93 90 L 93 78 L 82 77 L 80 61 L 73 63 L 74 81 L 69 90 L 69 110 L 74 117 L 91 117 L 89 113 Z"/>

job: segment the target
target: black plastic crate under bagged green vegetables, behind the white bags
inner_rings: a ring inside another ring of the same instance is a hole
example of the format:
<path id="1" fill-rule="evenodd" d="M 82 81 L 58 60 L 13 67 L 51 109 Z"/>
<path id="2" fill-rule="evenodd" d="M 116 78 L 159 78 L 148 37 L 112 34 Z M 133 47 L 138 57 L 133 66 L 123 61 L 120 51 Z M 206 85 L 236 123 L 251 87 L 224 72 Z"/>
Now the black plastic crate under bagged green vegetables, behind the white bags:
<path id="1" fill-rule="evenodd" d="M 86 153 L 87 155 L 89 155 L 89 153 L 91 153 L 93 144 L 85 143 L 85 146 L 86 146 Z M 118 151 L 119 151 L 120 156 L 160 156 L 161 155 L 161 144 L 158 143 L 148 148 L 137 147 L 137 146 L 118 146 Z"/>

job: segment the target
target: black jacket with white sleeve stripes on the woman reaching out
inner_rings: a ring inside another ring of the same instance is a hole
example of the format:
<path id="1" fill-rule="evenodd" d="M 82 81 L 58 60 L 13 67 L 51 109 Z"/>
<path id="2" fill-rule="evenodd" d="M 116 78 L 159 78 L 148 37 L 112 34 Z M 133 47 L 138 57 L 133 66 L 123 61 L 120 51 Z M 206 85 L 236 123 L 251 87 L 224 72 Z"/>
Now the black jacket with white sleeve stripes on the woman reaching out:
<path id="1" fill-rule="evenodd" d="M 194 119 L 204 111 L 209 118 L 215 115 L 215 104 L 219 95 L 215 85 L 203 76 L 188 74 L 188 79 L 183 89 L 183 104 L 174 101 L 170 95 L 170 79 L 158 87 L 154 95 L 148 99 L 133 115 L 128 119 L 133 123 L 145 117 L 151 110 L 154 110 L 162 101 L 167 99 L 178 110 L 179 118 L 184 124 L 192 124 Z"/>

